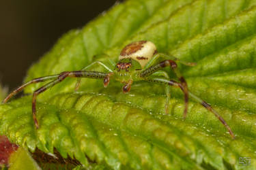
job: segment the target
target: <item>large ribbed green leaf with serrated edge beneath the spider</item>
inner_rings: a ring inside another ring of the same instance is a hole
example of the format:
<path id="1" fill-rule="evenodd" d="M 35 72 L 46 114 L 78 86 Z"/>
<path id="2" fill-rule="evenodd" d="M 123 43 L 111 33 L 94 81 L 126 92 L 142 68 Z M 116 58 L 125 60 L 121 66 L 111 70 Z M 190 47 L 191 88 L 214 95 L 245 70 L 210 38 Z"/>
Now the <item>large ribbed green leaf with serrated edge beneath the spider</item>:
<path id="1" fill-rule="evenodd" d="M 38 97 L 38 130 L 31 95 L 1 105 L 0 133 L 31 152 L 56 148 L 63 158 L 95 169 L 256 169 L 255 4 L 128 0 L 61 37 L 25 79 L 79 70 L 92 61 L 117 61 L 126 44 L 150 40 L 158 52 L 197 63 L 179 65 L 188 88 L 223 116 L 236 139 L 193 99 L 183 120 L 179 89 L 171 88 L 166 115 L 165 88 L 158 84 L 137 83 L 123 94 L 119 82 L 103 88 L 101 81 L 86 79 L 74 92 L 74 78 Z M 251 165 L 243 166 L 243 157 L 250 157 Z"/>

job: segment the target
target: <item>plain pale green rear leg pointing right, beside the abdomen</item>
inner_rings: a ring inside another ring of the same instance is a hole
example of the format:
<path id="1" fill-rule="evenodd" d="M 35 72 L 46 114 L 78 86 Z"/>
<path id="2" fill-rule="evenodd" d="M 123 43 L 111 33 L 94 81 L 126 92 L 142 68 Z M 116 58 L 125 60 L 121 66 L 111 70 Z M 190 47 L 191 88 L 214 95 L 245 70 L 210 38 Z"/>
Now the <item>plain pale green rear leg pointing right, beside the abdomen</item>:
<path id="1" fill-rule="evenodd" d="M 171 56 L 171 55 L 167 55 L 164 53 L 157 53 L 153 56 L 153 58 L 147 63 L 147 65 L 145 65 L 144 69 L 149 68 L 150 66 L 154 65 L 154 63 L 156 63 L 158 61 L 159 58 L 162 58 L 163 60 L 172 60 L 172 61 L 177 61 L 182 63 L 183 65 L 188 65 L 188 66 L 195 66 L 196 63 L 189 63 L 189 62 L 185 62 L 185 61 L 181 61 L 179 58 L 176 58 L 175 56 Z"/>

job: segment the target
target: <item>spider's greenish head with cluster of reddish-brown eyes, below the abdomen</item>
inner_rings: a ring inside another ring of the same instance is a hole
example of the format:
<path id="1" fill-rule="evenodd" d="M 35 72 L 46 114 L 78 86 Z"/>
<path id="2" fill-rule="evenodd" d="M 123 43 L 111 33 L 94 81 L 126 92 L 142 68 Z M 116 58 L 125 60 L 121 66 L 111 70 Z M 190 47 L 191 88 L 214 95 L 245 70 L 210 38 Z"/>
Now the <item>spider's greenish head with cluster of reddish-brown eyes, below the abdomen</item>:
<path id="1" fill-rule="evenodd" d="M 134 61 L 132 58 L 124 58 L 122 60 L 119 60 L 117 65 L 115 65 L 116 71 L 134 71 L 136 69 L 141 69 L 141 65 Z"/>

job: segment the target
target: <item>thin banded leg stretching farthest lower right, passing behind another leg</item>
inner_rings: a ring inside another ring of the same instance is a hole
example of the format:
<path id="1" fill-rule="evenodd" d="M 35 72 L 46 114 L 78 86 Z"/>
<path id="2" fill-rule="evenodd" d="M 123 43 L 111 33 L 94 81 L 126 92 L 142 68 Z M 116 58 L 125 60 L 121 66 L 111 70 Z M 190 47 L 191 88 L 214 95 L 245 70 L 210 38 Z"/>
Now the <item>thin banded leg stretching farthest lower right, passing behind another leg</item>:
<path id="1" fill-rule="evenodd" d="M 148 82 L 156 82 L 158 84 L 168 84 L 169 86 L 179 87 L 181 89 L 184 88 L 184 87 L 182 87 L 183 85 L 181 83 L 178 83 L 175 80 L 166 80 L 163 78 L 145 78 L 144 80 L 146 80 Z M 208 103 L 206 103 L 205 101 L 203 101 L 202 99 L 200 99 L 199 97 L 194 95 L 193 93 L 189 92 L 189 95 L 190 95 L 190 97 L 193 97 L 193 99 L 195 99 L 196 101 L 201 103 L 201 105 L 203 105 L 203 107 L 208 109 L 208 111 L 212 112 L 214 114 L 214 116 L 216 116 L 216 118 L 218 118 L 218 120 L 220 120 L 221 123 L 225 126 L 227 131 L 229 131 L 229 134 L 231 135 L 232 139 L 235 139 L 235 135 L 233 134 L 233 131 L 231 131 L 227 122 L 223 119 L 223 117 L 221 117 L 220 114 L 218 114 L 218 112 L 216 112 L 215 109 L 213 109 Z"/>

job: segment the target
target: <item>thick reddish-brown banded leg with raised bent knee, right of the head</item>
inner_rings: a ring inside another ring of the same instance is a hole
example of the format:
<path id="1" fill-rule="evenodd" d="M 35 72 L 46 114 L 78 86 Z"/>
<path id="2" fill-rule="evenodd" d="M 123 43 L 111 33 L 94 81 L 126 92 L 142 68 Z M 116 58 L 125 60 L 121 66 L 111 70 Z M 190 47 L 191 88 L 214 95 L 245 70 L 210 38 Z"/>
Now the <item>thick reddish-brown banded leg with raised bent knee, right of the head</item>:
<path id="1" fill-rule="evenodd" d="M 162 69 L 163 67 L 167 67 L 167 66 L 171 67 L 171 69 L 173 70 L 173 72 L 175 73 L 175 75 L 177 76 L 177 78 L 180 80 L 180 82 L 182 84 L 182 91 L 184 92 L 184 101 L 185 101 L 185 109 L 184 109 L 183 118 L 186 118 L 186 114 L 188 112 L 188 86 L 186 84 L 186 80 L 183 78 L 179 69 L 177 69 L 177 64 L 175 63 L 175 61 L 172 61 L 172 60 L 162 61 L 156 65 L 153 65 L 152 67 L 149 67 L 149 68 L 141 71 L 141 73 L 139 73 L 139 76 L 141 78 L 146 78 L 147 76 L 152 75 L 152 73 L 158 71 L 159 69 Z"/>

